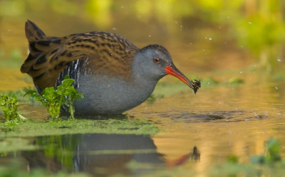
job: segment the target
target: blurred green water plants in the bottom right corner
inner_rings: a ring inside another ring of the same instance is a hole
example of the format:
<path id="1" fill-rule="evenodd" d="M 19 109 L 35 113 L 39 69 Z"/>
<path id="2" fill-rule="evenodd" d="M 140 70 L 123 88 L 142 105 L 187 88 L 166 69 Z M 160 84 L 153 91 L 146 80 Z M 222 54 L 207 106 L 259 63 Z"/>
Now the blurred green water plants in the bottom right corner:
<path id="1" fill-rule="evenodd" d="M 239 157 L 232 155 L 227 162 L 209 171 L 210 176 L 284 176 L 285 160 L 280 142 L 271 138 L 264 146 L 264 154 L 249 157 L 251 163 L 239 163 Z"/>

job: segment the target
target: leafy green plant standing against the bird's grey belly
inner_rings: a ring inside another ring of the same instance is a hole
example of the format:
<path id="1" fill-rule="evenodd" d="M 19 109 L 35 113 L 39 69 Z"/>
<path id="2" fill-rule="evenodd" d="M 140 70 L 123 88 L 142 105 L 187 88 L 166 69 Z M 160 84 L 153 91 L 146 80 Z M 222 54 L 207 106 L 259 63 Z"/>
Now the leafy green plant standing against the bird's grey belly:
<path id="1" fill-rule="evenodd" d="M 73 119 L 75 112 L 73 101 L 84 98 L 84 95 L 72 86 L 74 81 L 66 75 L 62 85 L 56 88 L 46 87 L 41 94 L 38 94 L 35 90 L 29 90 L 25 95 L 30 95 L 34 100 L 41 102 L 48 109 L 48 113 L 51 114 L 52 119 L 59 118 L 62 106 L 68 107 L 68 112 Z"/>

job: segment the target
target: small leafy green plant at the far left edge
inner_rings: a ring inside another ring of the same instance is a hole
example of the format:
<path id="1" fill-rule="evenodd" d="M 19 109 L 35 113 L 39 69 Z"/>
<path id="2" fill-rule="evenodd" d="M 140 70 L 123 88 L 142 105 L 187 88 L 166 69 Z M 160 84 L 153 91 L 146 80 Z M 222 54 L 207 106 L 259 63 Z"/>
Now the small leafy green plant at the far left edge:
<path id="1" fill-rule="evenodd" d="M 6 124 L 17 124 L 21 122 L 21 119 L 26 119 L 17 112 L 19 102 L 15 94 L 12 97 L 6 94 L 0 96 L 0 106 L 4 112 Z"/>

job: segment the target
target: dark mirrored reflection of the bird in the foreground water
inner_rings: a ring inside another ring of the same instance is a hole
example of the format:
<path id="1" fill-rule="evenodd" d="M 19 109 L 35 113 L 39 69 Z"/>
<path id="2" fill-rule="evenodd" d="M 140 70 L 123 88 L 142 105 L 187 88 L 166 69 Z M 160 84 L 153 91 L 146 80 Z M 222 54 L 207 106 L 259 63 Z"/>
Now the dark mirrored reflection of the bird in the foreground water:
<path id="1" fill-rule="evenodd" d="M 22 151 L 28 168 L 45 168 L 56 173 L 86 172 L 92 176 L 138 176 L 157 169 L 180 166 L 189 159 L 199 160 L 195 146 L 189 154 L 175 160 L 157 152 L 150 136 L 135 134 L 66 134 L 37 137 L 33 144 L 43 146 L 38 151 Z M 146 164 L 147 166 L 145 166 Z"/>

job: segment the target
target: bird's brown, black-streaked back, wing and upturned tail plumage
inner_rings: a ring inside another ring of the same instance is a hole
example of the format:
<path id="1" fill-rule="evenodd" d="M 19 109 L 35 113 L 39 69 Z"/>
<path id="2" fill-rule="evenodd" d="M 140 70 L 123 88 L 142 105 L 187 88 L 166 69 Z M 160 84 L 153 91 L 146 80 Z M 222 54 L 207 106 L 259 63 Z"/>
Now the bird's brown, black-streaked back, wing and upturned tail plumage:
<path id="1" fill-rule="evenodd" d="M 30 53 L 21 66 L 21 73 L 31 75 L 41 90 L 61 82 L 62 78 L 58 76 L 64 70 L 68 70 L 66 74 L 102 74 L 128 80 L 130 65 L 139 50 L 115 33 L 88 32 L 63 38 L 49 37 L 31 21 L 26 22 L 25 29 Z M 73 78 L 73 75 L 69 76 Z"/>

